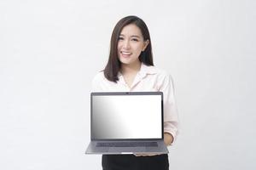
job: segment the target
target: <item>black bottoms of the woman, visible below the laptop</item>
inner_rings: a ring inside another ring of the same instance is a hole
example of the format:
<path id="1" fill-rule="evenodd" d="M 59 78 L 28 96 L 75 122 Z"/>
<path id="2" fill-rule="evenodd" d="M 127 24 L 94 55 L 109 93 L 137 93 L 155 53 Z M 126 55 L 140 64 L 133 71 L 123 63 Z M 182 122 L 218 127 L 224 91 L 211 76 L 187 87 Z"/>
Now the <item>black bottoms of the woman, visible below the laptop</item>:
<path id="1" fill-rule="evenodd" d="M 103 155 L 103 170 L 169 170 L 168 155 Z"/>

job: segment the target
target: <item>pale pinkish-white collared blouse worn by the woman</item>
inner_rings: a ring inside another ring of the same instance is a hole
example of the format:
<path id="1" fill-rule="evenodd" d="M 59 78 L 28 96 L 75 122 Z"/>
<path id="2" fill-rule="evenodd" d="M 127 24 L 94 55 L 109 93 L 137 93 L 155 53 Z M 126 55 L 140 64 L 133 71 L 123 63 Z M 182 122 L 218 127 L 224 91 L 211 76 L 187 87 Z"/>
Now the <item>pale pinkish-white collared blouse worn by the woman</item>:
<path id="1" fill-rule="evenodd" d="M 119 73 L 118 82 L 110 82 L 104 77 L 103 71 L 96 74 L 92 80 L 92 92 L 148 92 L 160 91 L 164 94 L 164 132 L 177 137 L 178 116 L 175 104 L 172 77 L 154 66 L 142 63 L 131 88 Z"/>

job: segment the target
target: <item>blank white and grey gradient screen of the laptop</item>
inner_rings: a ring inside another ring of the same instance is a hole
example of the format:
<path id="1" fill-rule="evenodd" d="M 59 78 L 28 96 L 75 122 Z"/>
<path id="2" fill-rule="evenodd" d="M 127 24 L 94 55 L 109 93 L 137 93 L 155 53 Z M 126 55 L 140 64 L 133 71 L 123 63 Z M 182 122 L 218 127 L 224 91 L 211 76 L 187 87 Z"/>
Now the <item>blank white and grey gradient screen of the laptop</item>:
<path id="1" fill-rule="evenodd" d="M 161 138 L 160 92 L 91 94 L 91 139 Z"/>

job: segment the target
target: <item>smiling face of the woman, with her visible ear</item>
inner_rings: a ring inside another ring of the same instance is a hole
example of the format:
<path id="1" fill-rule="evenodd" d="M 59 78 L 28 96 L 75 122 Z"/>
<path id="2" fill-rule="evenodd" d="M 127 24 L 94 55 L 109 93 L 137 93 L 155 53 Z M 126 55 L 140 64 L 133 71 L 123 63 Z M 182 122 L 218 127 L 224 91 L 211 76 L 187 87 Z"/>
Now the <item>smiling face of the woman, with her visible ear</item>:
<path id="1" fill-rule="evenodd" d="M 138 57 L 147 48 L 148 40 L 144 41 L 142 31 L 134 24 L 127 25 L 119 35 L 119 61 L 125 65 L 140 62 Z"/>

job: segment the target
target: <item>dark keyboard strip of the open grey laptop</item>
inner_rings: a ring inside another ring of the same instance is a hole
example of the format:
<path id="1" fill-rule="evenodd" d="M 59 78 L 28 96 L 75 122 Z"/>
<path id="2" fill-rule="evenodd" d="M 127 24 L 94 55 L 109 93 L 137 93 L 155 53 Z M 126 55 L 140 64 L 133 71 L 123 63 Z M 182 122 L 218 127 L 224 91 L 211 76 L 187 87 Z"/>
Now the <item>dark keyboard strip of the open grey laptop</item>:
<path id="1" fill-rule="evenodd" d="M 96 147 L 157 147 L 157 142 L 98 142 Z"/>

